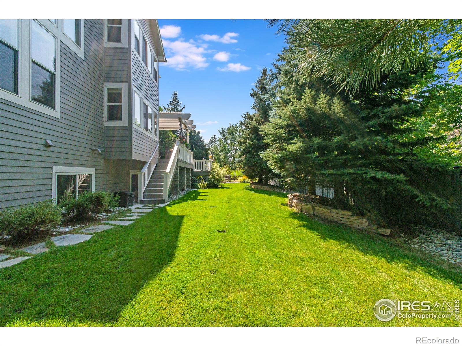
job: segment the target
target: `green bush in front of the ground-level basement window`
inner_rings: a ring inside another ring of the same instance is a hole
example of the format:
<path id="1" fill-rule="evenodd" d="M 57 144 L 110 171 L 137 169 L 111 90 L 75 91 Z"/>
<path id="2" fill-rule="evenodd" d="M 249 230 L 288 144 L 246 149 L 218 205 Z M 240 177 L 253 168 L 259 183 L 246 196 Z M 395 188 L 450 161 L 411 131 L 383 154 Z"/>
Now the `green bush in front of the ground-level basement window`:
<path id="1" fill-rule="evenodd" d="M 118 205 L 119 196 L 111 192 L 84 192 L 75 199 L 71 194 L 65 194 L 60 202 L 60 207 L 64 210 L 65 217 L 70 221 L 87 220 L 92 214 L 100 214 L 109 208 Z"/>

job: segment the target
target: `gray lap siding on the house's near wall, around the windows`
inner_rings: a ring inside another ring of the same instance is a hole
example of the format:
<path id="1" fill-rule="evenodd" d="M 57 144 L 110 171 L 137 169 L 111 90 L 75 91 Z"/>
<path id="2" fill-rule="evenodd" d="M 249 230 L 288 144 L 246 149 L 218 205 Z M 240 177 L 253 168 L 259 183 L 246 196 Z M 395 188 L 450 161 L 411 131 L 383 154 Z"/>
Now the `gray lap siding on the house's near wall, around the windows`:
<path id="1" fill-rule="evenodd" d="M 0 209 L 51 199 L 53 166 L 94 167 L 97 191 L 127 190 L 129 170 L 142 167 L 127 156 L 91 151 L 106 141 L 122 152 L 130 148 L 127 128 L 117 139 L 105 137 L 103 29 L 103 20 L 85 20 L 85 60 L 61 42 L 60 119 L 0 98 Z M 45 147 L 45 139 L 53 146 Z"/>

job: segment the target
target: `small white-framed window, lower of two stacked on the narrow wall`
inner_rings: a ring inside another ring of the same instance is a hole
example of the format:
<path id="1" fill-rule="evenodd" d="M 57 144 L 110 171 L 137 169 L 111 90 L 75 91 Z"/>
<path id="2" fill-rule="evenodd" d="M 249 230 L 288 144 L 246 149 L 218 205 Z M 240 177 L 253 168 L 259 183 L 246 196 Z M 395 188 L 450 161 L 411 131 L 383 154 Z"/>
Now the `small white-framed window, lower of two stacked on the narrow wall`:
<path id="1" fill-rule="evenodd" d="M 128 125 L 128 83 L 104 83 L 104 125 Z"/>

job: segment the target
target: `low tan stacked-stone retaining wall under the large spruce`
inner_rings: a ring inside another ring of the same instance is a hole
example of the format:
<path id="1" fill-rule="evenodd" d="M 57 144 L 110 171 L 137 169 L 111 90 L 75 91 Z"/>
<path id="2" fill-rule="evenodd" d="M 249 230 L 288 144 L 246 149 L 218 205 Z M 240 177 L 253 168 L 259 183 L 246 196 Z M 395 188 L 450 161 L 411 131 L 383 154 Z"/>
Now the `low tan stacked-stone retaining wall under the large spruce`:
<path id="1" fill-rule="evenodd" d="M 353 215 L 353 213 L 349 210 L 335 209 L 318 203 L 304 203 L 298 197 L 298 193 L 287 195 L 288 203 L 302 213 L 317 215 L 324 219 L 335 221 L 349 227 L 362 228 L 374 233 L 383 235 L 390 234 L 390 230 L 388 228 L 380 228 L 377 227 L 377 225 L 372 225 L 364 216 Z"/>

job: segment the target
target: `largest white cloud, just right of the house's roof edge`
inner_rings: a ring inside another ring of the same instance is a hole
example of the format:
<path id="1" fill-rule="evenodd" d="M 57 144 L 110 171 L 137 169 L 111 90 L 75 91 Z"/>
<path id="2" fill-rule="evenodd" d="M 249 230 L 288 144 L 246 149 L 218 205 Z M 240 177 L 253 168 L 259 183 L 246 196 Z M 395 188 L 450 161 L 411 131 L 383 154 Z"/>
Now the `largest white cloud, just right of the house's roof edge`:
<path id="1" fill-rule="evenodd" d="M 168 61 L 164 66 L 184 70 L 188 67 L 205 68 L 209 65 L 204 56 L 208 53 L 205 47 L 198 46 L 192 40 L 189 42 L 184 42 L 181 39 L 176 41 L 163 40 L 162 42 L 167 50 Z"/>

